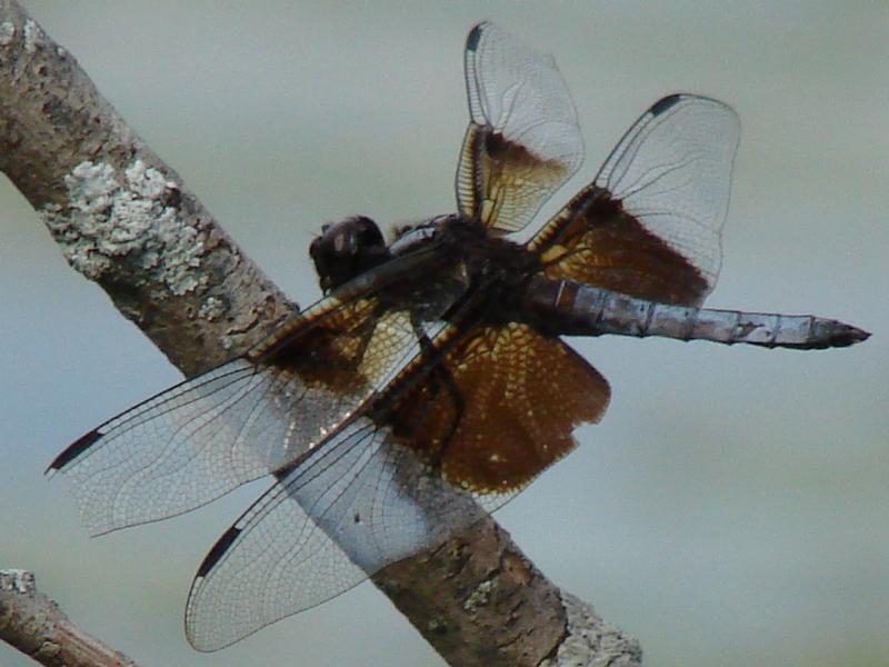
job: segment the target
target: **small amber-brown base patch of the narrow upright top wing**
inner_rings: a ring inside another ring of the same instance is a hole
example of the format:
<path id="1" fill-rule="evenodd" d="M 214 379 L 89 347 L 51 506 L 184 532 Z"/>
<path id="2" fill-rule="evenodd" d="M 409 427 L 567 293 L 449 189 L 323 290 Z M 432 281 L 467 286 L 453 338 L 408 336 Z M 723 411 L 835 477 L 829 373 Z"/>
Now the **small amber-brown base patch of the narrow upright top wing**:
<path id="1" fill-rule="evenodd" d="M 457 171 L 461 212 L 489 229 L 522 229 L 571 175 L 570 166 L 539 158 L 491 127 L 470 123 Z"/>

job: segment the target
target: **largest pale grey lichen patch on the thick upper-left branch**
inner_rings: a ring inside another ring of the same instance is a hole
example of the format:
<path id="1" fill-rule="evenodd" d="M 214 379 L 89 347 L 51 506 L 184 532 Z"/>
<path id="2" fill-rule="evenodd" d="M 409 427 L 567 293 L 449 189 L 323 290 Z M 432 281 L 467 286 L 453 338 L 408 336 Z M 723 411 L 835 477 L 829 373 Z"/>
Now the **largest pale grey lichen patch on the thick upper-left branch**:
<path id="1" fill-rule="evenodd" d="M 178 186 L 142 160 L 119 173 L 106 162 L 84 161 L 64 178 L 66 206 L 41 211 L 68 262 L 91 280 L 112 268 L 136 283 L 160 282 L 181 296 L 204 281 L 194 269 L 203 237 L 180 211 L 167 206 Z"/>

